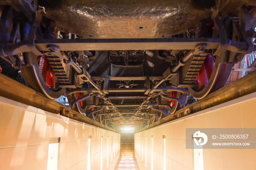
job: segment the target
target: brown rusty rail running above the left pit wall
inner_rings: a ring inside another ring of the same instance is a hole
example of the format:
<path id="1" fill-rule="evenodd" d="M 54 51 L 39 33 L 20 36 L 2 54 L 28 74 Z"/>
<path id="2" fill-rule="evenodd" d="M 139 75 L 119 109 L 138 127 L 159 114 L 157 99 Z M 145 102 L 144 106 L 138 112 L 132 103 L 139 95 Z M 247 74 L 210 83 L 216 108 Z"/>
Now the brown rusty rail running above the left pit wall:
<path id="1" fill-rule="evenodd" d="M 3 74 L 0 74 L 0 96 L 9 98 L 20 103 L 30 105 L 44 111 L 59 114 L 70 119 L 78 120 L 96 127 L 117 132 L 97 121 L 90 119 L 55 100 L 51 100 L 43 94 L 15 81 Z M 118 133 L 118 132 L 117 132 Z"/>

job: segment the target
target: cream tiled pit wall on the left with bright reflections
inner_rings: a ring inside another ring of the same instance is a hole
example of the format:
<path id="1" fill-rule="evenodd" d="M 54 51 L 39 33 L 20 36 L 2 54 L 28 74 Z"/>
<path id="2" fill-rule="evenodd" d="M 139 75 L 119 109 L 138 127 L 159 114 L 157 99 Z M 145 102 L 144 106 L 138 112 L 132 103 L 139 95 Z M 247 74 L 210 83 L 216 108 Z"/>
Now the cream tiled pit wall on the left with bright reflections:
<path id="1" fill-rule="evenodd" d="M 91 170 L 100 170 L 102 136 L 102 169 L 113 170 L 120 155 L 120 134 L 0 97 L 1 170 L 46 170 L 53 137 L 61 138 L 59 170 L 86 170 L 89 136 Z"/>

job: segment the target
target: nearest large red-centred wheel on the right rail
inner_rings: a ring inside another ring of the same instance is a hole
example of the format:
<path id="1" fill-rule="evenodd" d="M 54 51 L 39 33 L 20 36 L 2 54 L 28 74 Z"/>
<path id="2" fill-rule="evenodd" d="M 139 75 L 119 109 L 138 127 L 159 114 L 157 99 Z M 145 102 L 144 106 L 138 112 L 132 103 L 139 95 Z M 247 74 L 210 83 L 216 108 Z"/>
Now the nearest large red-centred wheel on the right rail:
<path id="1" fill-rule="evenodd" d="M 196 77 L 195 86 L 188 88 L 193 97 L 202 99 L 226 84 L 233 66 L 231 63 L 221 63 L 220 60 L 221 56 L 214 59 L 207 55 Z"/>

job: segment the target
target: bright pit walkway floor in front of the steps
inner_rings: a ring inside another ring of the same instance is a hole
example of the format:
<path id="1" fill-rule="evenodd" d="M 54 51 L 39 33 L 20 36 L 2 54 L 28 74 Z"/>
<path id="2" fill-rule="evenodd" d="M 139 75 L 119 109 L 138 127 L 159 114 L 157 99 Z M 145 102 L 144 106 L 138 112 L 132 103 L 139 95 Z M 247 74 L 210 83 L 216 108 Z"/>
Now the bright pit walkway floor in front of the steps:
<path id="1" fill-rule="evenodd" d="M 139 170 L 135 157 L 119 157 L 115 170 Z"/>

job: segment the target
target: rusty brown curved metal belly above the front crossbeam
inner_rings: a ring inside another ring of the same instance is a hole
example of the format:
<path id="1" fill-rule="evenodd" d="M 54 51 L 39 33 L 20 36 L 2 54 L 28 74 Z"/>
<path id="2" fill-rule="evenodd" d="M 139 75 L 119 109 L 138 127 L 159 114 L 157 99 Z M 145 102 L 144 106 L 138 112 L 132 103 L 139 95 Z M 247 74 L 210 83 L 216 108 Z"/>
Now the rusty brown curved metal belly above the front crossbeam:
<path id="1" fill-rule="evenodd" d="M 162 38 L 186 32 L 211 17 L 215 0 L 39 0 L 38 4 L 57 27 L 84 38 Z"/>

